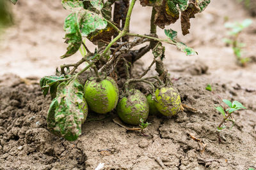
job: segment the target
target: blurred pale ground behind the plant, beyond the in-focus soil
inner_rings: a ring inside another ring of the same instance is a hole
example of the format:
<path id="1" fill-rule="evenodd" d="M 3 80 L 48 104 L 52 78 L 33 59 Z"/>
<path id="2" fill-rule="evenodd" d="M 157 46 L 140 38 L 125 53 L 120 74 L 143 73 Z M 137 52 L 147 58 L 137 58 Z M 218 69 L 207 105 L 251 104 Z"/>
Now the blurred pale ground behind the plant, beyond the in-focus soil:
<path id="1" fill-rule="evenodd" d="M 181 34 L 179 21 L 166 27 L 177 31 L 179 41 L 198 52 L 198 55 L 186 56 L 175 46 L 165 44 L 164 64 L 170 70 L 172 78 L 202 75 L 210 77 L 212 82 L 225 81 L 255 87 L 256 5 L 253 4 L 256 4 L 254 0 L 212 1 L 204 12 L 191 19 L 190 34 L 186 36 Z M 81 59 L 79 52 L 66 59 L 60 59 L 67 48 L 63 39 L 65 36 L 63 22 L 69 13 L 63 9 L 60 1 L 20 0 L 16 5 L 8 3 L 0 6 L 0 16 L 3 16 L 3 12 L 6 12 L 10 6 L 12 7 L 12 15 L 7 12 L 7 18 L 0 19 L 0 75 L 13 73 L 22 78 L 28 76 L 40 78 L 54 74 L 56 67 L 61 64 L 77 62 Z M 232 45 L 228 45 L 223 39 L 234 37 L 228 35 L 227 23 L 242 23 L 248 18 L 252 20 L 252 24 L 239 32 L 237 39 L 241 44 L 243 43 L 241 55 L 250 59 L 242 67 L 237 64 Z M 3 31 L 3 25 L 8 25 L 8 29 Z M 132 13 L 130 31 L 147 34 L 149 25 L 150 7 L 142 7 L 140 1 L 137 1 Z M 165 38 L 163 30 L 158 29 L 157 34 Z M 86 44 L 91 51 L 94 50 L 95 46 L 92 43 L 86 41 Z M 148 58 L 152 59 L 150 52 L 141 59 L 144 67 L 151 62 Z"/>

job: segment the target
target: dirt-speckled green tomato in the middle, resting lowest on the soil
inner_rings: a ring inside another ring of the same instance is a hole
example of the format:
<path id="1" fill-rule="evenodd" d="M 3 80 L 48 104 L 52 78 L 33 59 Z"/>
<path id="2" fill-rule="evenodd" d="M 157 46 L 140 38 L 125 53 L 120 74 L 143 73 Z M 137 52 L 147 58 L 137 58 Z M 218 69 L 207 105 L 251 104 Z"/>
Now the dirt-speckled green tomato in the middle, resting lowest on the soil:
<path id="1" fill-rule="evenodd" d="M 128 97 L 123 97 L 117 105 L 118 116 L 127 124 L 139 125 L 140 119 L 147 120 L 149 106 L 147 98 L 140 90 L 130 90 L 133 92 Z"/>

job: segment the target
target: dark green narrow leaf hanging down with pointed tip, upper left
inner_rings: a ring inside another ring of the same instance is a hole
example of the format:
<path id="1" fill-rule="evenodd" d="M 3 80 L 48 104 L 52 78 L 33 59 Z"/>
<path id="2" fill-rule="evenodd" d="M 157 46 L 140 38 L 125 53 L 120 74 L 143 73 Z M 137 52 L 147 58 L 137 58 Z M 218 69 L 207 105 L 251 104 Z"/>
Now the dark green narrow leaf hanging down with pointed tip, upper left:
<path id="1" fill-rule="evenodd" d="M 82 36 L 79 31 L 79 24 L 78 24 L 77 17 L 78 17 L 77 13 L 71 13 L 70 15 L 68 15 L 68 17 L 65 20 L 65 23 L 64 23 L 64 31 L 66 32 L 65 42 L 68 43 L 68 47 L 67 47 L 67 52 L 60 57 L 61 59 L 64 59 L 76 53 L 82 44 Z"/>

